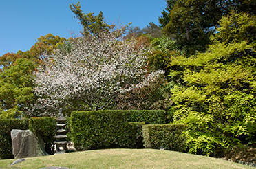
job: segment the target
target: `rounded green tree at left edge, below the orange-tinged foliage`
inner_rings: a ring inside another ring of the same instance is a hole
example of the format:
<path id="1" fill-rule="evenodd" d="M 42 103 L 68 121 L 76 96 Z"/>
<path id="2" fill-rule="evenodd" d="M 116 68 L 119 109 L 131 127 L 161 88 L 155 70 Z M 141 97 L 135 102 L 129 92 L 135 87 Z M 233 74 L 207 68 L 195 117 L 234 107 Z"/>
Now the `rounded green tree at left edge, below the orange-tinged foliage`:
<path id="1" fill-rule="evenodd" d="M 0 109 L 2 117 L 14 117 L 34 101 L 35 63 L 19 58 L 0 73 Z"/>

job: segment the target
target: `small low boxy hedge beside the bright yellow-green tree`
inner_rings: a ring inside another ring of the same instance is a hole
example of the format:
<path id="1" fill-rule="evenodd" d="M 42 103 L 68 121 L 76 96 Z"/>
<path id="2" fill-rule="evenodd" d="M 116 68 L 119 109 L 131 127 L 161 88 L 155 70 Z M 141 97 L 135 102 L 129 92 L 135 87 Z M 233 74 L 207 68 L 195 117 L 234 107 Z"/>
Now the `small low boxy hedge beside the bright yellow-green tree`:
<path id="1" fill-rule="evenodd" d="M 154 124 L 142 126 L 145 148 L 163 148 L 164 150 L 184 151 L 186 138 L 182 132 L 184 124 Z"/>

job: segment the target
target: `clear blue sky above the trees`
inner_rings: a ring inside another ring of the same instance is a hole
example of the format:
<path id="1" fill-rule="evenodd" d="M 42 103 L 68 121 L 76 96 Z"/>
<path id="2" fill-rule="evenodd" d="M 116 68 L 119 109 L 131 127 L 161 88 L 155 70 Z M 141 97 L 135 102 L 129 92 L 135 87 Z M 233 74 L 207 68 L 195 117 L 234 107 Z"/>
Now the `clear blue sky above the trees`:
<path id="1" fill-rule="evenodd" d="M 37 38 L 48 33 L 69 38 L 82 26 L 74 19 L 69 5 L 78 0 L 0 0 L 0 56 L 7 52 L 27 51 Z M 158 16 L 166 7 L 164 0 L 81 0 L 81 9 L 103 11 L 107 23 L 146 27 L 158 25 Z"/>

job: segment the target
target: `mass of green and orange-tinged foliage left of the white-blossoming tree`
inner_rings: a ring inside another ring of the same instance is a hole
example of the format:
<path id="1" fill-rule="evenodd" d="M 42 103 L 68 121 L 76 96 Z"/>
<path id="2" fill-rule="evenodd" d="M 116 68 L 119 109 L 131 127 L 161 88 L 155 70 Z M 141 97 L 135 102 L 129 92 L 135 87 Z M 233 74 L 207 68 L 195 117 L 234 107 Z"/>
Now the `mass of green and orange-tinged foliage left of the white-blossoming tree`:
<path id="1" fill-rule="evenodd" d="M 27 110 L 36 100 L 33 72 L 44 62 L 44 54 L 53 54 L 65 41 L 65 38 L 47 34 L 40 36 L 26 52 L 0 57 L 0 117 L 31 116 Z"/>

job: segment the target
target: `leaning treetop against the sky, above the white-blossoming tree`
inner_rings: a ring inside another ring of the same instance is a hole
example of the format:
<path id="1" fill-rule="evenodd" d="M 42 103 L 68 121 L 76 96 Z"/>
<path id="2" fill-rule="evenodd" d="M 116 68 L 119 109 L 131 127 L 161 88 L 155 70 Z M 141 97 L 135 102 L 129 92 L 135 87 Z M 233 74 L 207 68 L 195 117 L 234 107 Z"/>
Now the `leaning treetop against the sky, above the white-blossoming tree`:
<path id="1" fill-rule="evenodd" d="M 83 13 L 81 10 L 80 3 L 72 3 L 70 5 L 70 10 L 76 15 L 74 18 L 78 19 L 83 25 L 83 34 L 92 34 L 94 36 L 98 36 L 100 32 L 108 31 L 109 29 L 113 28 L 114 25 L 108 25 L 104 21 L 103 12 L 100 11 L 100 13 L 97 16 L 94 16 L 94 13 Z"/>

